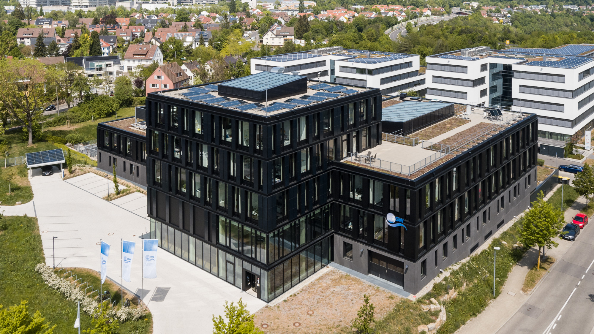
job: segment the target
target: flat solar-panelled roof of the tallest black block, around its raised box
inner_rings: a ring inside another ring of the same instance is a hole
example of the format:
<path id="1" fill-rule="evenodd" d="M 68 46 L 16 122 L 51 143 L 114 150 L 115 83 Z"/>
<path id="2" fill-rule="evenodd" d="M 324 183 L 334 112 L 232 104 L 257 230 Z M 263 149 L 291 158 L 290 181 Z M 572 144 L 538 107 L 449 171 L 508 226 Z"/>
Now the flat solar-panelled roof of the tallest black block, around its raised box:
<path id="1" fill-rule="evenodd" d="M 255 75 L 255 74 L 254 74 Z M 282 74 L 287 77 L 296 77 L 303 79 L 301 75 Z M 260 80 L 268 80 L 266 76 L 259 77 Z M 227 84 L 229 81 L 240 80 L 233 79 L 223 81 L 217 84 L 203 84 L 199 86 L 184 87 L 176 90 L 165 90 L 152 94 L 173 97 L 175 99 L 189 100 L 195 103 L 218 106 L 220 108 L 232 109 L 236 111 L 248 112 L 249 114 L 270 116 L 278 115 L 283 112 L 304 106 L 312 106 L 316 103 L 326 102 L 328 100 L 349 96 L 350 94 L 366 92 L 374 88 L 365 88 L 357 86 L 348 86 L 344 84 L 320 83 L 320 81 L 307 80 L 307 90 L 301 93 L 291 94 L 287 92 L 286 96 L 268 99 L 266 102 L 252 102 L 245 98 L 228 96 L 225 93 L 219 93 L 219 84 Z M 245 82 L 245 81 L 240 81 Z"/>

